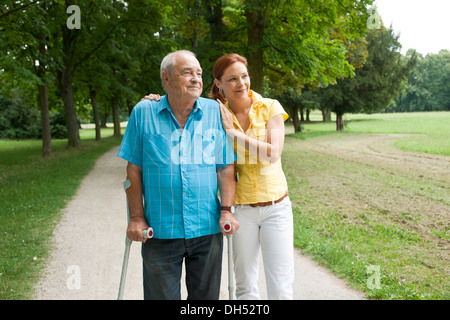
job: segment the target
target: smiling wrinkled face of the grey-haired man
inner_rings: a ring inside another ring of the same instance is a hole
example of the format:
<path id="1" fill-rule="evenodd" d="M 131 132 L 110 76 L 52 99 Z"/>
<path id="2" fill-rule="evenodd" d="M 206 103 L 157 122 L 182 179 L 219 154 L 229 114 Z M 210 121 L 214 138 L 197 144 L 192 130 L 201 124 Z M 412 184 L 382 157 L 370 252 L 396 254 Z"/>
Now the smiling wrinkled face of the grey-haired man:
<path id="1" fill-rule="evenodd" d="M 202 93 L 202 68 L 192 55 L 178 54 L 172 74 L 163 72 L 163 79 L 169 95 L 197 100 Z"/>

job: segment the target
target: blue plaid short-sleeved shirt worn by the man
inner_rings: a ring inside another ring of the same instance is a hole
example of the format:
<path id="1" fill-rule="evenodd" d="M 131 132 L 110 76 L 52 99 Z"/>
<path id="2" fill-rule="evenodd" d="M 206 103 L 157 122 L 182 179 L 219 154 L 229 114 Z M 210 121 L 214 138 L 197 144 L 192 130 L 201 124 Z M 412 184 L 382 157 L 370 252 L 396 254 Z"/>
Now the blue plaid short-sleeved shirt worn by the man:
<path id="1" fill-rule="evenodd" d="M 216 169 L 236 155 L 216 101 L 197 99 L 184 130 L 167 96 L 139 102 L 117 156 L 142 168 L 145 218 L 155 238 L 220 232 Z"/>

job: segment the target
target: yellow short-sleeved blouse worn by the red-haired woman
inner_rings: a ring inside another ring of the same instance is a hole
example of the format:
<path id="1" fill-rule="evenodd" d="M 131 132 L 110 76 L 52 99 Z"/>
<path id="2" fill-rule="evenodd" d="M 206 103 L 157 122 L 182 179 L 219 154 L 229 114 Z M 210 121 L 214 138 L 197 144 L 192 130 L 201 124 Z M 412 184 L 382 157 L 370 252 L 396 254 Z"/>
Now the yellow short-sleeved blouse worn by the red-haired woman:
<path id="1" fill-rule="evenodd" d="M 245 134 L 266 142 L 267 121 L 280 113 L 283 114 L 284 121 L 289 116 L 277 100 L 263 98 L 252 90 L 249 90 L 249 97 L 253 103 L 249 111 L 250 126 Z M 225 106 L 233 115 L 234 127 L 244 132 L 228 102 Z M 286 194 L 288 187 L 281 168 L 281 159 L 270 163 L 250 153 L 236 140 L 233 145 L 238 156 L 234 163 L 237 180 L 235 204 L 274 201 Z"/>

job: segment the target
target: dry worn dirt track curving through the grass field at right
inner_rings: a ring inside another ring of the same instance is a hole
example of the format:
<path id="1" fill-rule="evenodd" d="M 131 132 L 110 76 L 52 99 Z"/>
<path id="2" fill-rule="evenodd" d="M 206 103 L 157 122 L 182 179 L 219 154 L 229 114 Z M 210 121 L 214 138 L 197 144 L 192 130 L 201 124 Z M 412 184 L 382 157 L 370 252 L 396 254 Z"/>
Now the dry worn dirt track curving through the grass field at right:
<path id="1" fill-rule="evenodd" d="M 303 150 L 305 156 L 308 152 L 316 153 L 310 154 L 310 158 L 319 161 L 317 169 L 321 163 L 323 170 L 310 172 L 318 175 L 310 180 L 318 188 L 332 188 L 331 194 L 340 203 L 353 198 L 360 205 L 372 205 L 386 213 L 423 216 L 423 223 L 430 225 L 447 220 L 442 230 L 448 231 L 450 158 L 402 151 L 394 147 L 400 137 L 343 134 L 306 141 L 288 138 L 286 145 Z"/>

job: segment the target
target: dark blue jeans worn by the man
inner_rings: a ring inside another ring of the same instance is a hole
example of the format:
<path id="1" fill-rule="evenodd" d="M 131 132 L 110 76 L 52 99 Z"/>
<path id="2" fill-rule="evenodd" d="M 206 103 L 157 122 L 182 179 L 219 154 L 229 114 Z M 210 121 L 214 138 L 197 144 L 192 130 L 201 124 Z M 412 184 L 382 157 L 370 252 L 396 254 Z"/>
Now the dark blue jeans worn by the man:
<path id="1" fill-rule="evenodd" d="M 188 300 L 217 300 L 222 233 L 193 239 L 148 239 L 142 244 L 144 299 L 180 300 L 183 258 Z"/>

